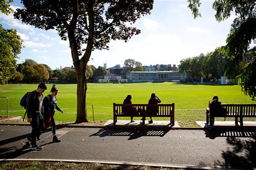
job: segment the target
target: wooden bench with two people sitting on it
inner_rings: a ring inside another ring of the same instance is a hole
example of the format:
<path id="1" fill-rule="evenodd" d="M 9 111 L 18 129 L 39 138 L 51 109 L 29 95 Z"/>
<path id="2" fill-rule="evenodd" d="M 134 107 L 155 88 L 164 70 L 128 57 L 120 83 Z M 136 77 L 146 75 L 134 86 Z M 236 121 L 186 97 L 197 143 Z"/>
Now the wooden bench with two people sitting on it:
<path id="1" fill-rule="evenodd" d="M 142 117 L 145 125 L 146 117 L 170 117 L 174 126 L 174 103 L 172 104 L 116 104 L 113 103 L 114 125 L 117 117 Z"/>

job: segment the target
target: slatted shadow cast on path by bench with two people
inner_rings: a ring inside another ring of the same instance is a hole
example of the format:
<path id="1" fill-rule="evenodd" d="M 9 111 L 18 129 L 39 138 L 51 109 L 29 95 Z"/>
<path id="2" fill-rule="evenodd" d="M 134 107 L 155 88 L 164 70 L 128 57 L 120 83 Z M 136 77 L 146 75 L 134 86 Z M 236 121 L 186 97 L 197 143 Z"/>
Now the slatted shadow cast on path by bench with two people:
<path id="1" fill-rule="evenodd" d="M 164 137 L 169 130 L 105 130 L 101 129 L 97 133 L 90 135 L 99 137 L 108 136 L 127 136 L 128 140 L 137 139 L 140 137 Z"/>

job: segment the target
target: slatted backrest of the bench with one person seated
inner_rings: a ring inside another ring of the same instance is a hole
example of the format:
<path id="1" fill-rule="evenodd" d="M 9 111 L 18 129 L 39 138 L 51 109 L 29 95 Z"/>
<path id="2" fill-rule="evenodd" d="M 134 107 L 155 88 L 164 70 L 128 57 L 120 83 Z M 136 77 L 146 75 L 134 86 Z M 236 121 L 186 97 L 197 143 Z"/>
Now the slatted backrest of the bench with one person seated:
<path id="1" fill-rule="evenodd" d="M 221 104 L 227 111 L 226 116 L 256 117 L 256 104 Z M 211 104 L 210 104 L 211 113 Z M 214 114 L 214 113 L 213 113 Z"/>

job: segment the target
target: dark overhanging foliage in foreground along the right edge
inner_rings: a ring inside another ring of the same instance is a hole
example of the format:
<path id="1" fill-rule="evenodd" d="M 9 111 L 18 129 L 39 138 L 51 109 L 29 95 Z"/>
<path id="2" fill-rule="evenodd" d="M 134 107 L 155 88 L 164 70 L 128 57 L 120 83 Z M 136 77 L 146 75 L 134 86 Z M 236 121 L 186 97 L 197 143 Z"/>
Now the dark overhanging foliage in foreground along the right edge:
<path id="1" fill-rule="evenodd" d="M 200 16 L 200 12 L 198 10 L 198 7 L 201 4 L 200 0 L 188 0 L 188 3 L 188 7 L 192 10 L 194 18 Z M 226 53 L 227 58 L 232 59 L 235 63 L 239 63 L 245 57 L 252 40 L 256 38 L 255 2 L 251 0 L 215 0 L 213 3 L 213 9 L 216 11 L 215 18 L 218 22 L 229 18 L 233 10 L 237 16 L 237 18 L 233 20 L 230 33 L 227 36 L 227 44 L 222 47 L 221 50 Z M 255 59 L 252 60 L 252 63 L 247 63 L 243 72 L 238 77 L 240 79 L 239 82 L 242 87 L 242 91 L 249 96 L 254 93 L 254 91 L 251 91 L 253 88 L 248 88 L 248 86 L 254 88 L 256 86 L 255 81 L 247 81 L 247 78 L 251 77 L 250 71 L 248 70 L 250 70 L 251 65 L 254 65 L 254 62 Z M 256 74 L 255 69 L 251 71 L 252 74 Z M 242 76 L 244 76 L 244 78 L 242 78 Z M 248 85 L 248 83 L 251 84 Z"/>

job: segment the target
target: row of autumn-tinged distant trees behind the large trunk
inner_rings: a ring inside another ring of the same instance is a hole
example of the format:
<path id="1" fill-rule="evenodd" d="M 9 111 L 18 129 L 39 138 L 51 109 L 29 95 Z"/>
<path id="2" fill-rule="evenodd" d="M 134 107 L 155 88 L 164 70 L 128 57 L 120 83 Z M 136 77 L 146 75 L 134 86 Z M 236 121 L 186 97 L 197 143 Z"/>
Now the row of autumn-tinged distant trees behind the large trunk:
<path id="1" fill-rule="evenodd" d="M 105 73 L 106 70 L 102 66 L 96 68 L 93 65 L 86 65 L 85 76 L 89 82 L 96 82 Z M 38 64 L 32 59 L 25 59 L 24 63 L 17 64 L 15 74 L 9 81 L 12 83 L 36 83 L 38 81 L 77 83 L 77 78 L 75 69 L 51 70 L 46 64 Z"/>

